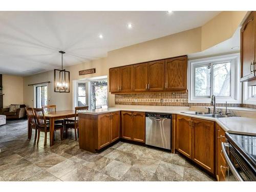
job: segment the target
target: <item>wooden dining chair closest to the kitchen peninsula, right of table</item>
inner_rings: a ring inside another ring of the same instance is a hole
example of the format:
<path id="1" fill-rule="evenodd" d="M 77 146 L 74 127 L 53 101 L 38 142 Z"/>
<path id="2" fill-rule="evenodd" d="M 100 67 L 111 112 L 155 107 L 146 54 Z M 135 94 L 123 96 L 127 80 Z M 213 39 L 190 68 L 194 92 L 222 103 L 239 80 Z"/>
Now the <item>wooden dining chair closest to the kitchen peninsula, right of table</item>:
<path id="1" fill-rule="evenodd" d="M 89 106 L 76 106 L 75 107 L 75 118 L 74 119 L 65 119 L 64 120 L 64 127 L 65 127 L 65 133 L 66 138 L 68 134 L 68 129 L 74 129 L 75 130 L 75 140 L 77 140 L 77 137 L 79 136 L 79 117 L 78 117 L 78 111 L 86 111 L 89 109 Z"/>

